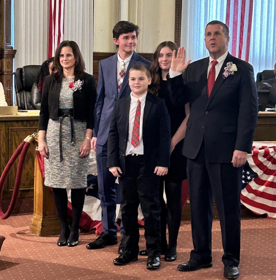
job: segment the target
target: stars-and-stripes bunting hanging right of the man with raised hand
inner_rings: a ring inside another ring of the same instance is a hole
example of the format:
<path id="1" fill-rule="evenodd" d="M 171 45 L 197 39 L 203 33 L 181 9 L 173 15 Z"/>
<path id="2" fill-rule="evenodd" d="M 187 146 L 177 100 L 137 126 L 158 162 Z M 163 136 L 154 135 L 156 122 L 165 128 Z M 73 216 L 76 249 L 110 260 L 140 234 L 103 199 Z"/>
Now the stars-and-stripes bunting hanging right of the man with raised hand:
<path id="1" fill-rule="evenodd" d="M 241 203 L 276 218 L 276 143 L 254 142 L 242 173 Z"/>

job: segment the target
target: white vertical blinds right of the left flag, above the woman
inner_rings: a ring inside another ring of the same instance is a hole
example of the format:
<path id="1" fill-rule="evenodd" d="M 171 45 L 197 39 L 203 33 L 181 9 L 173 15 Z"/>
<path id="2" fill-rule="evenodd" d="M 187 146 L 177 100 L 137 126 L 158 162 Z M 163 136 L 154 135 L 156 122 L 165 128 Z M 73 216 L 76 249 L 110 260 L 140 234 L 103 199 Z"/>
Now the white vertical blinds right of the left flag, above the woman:
<path id="1" fill-rule="evenodd" d="M 75 41 L 83 56 L 86 72 L 93 73 L 93 1 L 66 0 L 64 40 Z"/>

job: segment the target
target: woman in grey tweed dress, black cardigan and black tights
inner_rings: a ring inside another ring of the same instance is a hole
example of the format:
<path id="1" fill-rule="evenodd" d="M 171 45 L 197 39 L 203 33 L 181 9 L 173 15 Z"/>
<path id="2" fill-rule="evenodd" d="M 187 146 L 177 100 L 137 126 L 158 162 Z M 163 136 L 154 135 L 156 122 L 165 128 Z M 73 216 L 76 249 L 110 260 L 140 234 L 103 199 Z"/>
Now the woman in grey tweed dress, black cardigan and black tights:
<path id="1" fill-rule="evenodd" d="M 78 244 L 87 169 L 93 133 L 95 79 L 85 73 L 83 57 L 74 41 L 57 47 L 46 77 L 39 119 L 39 152 L 45 158 L 45 185 L 53 196 L 61 223 L 58 246 Z M 71 229 L 67 222 L 67 190 L 71 189 Z"/>

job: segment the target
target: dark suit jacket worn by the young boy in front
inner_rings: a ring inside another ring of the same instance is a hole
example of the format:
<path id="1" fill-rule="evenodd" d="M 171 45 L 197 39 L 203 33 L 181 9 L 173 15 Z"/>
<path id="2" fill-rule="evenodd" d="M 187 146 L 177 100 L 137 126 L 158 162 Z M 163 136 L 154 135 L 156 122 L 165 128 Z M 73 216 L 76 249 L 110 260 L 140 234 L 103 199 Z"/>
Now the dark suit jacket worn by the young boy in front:
<path id="1" fill-rule="evenodd" d="M 130 103 L 130 95 L 115 102 L 108 134 L 107 167 L 118 166 L 123 174 Z M 170 141 L 170 116 L 165 101 L 147 93 L 143 115 L 143 145 L 145 166 L 150 173 L 154 172 L 156 166 L 169 167 Z"/>

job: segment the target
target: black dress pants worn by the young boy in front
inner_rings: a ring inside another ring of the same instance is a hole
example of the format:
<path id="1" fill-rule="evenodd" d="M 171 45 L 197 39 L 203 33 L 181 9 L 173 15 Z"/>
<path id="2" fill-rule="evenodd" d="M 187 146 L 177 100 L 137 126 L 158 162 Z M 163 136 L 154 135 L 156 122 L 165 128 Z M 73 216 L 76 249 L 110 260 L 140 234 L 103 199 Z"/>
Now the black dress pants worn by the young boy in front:
<path id="1" fill-rule="evenodd" d="M 139 253 L 138 206 L 141 203 L 148 256 L 160 257 L 159 177 L 153 172 L 145 169 L 143 155 L 128 155 L 125 174 L 119 178 L 124 247 L 132 256 Z"/>

